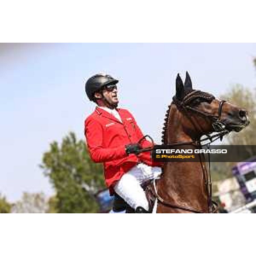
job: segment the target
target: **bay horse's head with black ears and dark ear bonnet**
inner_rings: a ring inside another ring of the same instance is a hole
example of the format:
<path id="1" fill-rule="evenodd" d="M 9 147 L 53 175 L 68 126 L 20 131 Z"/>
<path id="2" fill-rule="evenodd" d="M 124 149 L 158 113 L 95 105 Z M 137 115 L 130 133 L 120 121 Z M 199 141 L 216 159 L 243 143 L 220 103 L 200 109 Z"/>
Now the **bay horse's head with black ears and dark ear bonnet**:
<path id="1" fill-rule="evenodd" d="M 217 99 L 210 93 L 194 90 L 187 72 L 184 84 L 177 75 L 173 103 L 181 114 L 183 131 L 192 138 L 198 139 L 212 132 L 239 132 L 250 123 L 245 109 Z"/>

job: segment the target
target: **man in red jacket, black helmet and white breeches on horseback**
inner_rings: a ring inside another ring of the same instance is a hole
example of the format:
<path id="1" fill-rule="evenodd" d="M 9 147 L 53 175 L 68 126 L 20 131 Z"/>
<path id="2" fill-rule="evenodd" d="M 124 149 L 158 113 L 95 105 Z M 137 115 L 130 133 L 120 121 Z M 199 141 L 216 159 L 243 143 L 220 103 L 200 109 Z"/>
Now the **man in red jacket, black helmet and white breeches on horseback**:
<path id="1" fill-rule="evenodd" d="M 103 163 L 105 183 L 111 195 L 119 195 L 136 213 L 148 213 L 148 200 L 141 184 L 161 174 L 161 163 L 155 163 L 150 152 L 139 151 L 151 147 L 143 138 L 134 116 L 117 108 L 118 80 L 106 74 L 96 74 L 85 84 L 95 111 L 84 122 L 84 134 L 91 159 Z M 113 209 L 118 212 L 119 209 Z M 123 210 L 123 209 L 121 209 Z"/>

